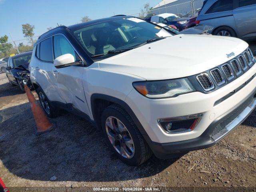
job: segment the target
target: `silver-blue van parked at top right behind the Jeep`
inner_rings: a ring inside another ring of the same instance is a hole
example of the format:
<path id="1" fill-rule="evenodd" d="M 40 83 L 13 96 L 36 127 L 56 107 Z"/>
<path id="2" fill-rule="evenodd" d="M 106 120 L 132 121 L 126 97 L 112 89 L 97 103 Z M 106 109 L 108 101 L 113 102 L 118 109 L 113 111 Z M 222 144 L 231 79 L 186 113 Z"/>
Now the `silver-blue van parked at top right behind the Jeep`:
<path id="1" fill-rule="evenodd" d="M 205 0 L 196 20 L 213 26 L 214 35 L 255 39 L 256 0 Z"/>

